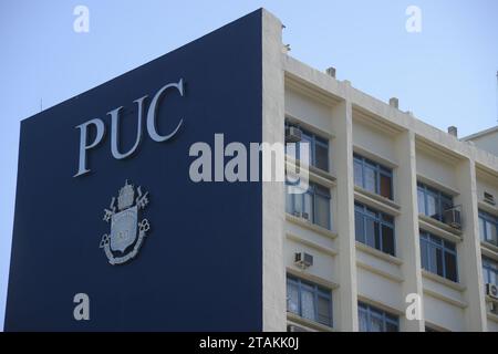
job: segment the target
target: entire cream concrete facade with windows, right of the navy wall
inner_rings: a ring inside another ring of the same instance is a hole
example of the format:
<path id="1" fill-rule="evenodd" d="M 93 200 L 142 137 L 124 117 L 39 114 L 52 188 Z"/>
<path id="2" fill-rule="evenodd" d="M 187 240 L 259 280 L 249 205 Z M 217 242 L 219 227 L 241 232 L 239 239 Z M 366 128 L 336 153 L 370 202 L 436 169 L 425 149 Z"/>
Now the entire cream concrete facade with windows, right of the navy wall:
<path id="1" fill-rule="evenodd" d="M 336 80 L 334 69 L 314 70 L 289 55 L 280 22 L 267 21 L 268 43 L 282 48 L 267 73 L 268 128 L 283 134 L 284 122 L 288 142 L 298 134 L 311 146 L 310 190 L 287 195 L 286 212 L 271 221 L 284 219 L 288 330 L 498 331 L 496 135 L 487 152 L 402 112 L 395 98 Z M 280 251 L 273 256 L 268 267 Z M 418 320 L 406 317 L 413 299 Z M 282 299 L 271 302 L 266 309 L 281 319 Z M 266 329 L 283 330 L 273 324 Z"/>

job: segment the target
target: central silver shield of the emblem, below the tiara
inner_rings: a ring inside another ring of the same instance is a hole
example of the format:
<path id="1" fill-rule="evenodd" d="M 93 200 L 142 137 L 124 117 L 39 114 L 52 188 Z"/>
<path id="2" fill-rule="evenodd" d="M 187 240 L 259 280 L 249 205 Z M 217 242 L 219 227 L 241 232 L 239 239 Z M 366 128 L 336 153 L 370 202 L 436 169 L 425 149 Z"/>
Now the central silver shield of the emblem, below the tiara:
<path id="1" fill-rule="evenodd" d="M 135 242 L 137 231 L 138 208 L 135 206 L 112 216 L 111 249 L 124 252 Z"/>

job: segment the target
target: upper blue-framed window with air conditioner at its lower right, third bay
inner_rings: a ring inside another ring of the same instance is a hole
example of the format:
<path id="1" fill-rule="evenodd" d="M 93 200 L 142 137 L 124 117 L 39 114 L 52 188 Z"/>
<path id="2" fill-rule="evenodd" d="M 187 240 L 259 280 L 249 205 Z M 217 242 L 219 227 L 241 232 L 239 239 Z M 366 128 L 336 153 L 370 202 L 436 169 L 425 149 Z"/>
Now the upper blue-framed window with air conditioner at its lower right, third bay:
<path id="1" fill-rule="evenodd" d="M 418 212 L 445 222 L 445 210 L 453 208 L 453 198 L 439 190 L 418 183 Z"/>

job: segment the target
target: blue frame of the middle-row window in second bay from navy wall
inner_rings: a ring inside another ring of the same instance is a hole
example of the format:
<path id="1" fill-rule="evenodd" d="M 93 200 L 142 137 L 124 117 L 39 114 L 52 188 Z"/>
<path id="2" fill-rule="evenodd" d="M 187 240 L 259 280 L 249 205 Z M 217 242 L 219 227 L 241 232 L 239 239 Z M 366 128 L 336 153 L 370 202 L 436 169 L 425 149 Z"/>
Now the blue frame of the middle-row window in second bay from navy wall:
<path id="1" fill-rule="evenodd" d="M 363 241 L 357 239 L 357 231 L 359 230 L 356 230 L 356 212 L 360 214 L 361 217 L 362 217 L 362 226 L 363 226 L 363 237 L 362 237 L 362 239 L 363 239 Z M 393 216 L 391 216 L 388 214 L 385 214 L 385 212 L 382 212 L 382 211 L 378 211 L 378 210 L 376 210 L 374 208 L 371 208 L 371 207 L 369 207 L 369 206 L 366 206 L 366 205 L 364 205 L 362 202 L 355 201 L 354 202 L 354 218 L 355 218 L 354 237 L 355 237 L 356 241 L 359 241 L 359 242 L 361 242 L 363 244 L 366 244 L 369 247 L 372 247 L 372 248 L 374 248 L 374 249 L 376 249 L 376 250 L 378 250 L 378 251 L 381 251 L 383 253 L 396 257 L 396 246 L 397 246 L 396 244 L 396 226 L 395 226 L 395 218 Z M 392 222 L 386 221 L 386 218 L 390 218 L 393 221 Z M 374 243 L 375 243 L 376 239 L 378 239 L 378 241 L 380 241 L 378 248 L 375 247 L 376 244 L 371 246 L 371 244 L 366 243 L 366 240 L 367 240 L 367 235 L 366 235 L 366 232 L 367 232 L 367 230 L 366 230 L 367 219 L 371 219 L 371 220 L 374 221 L 374 223 L 378 225 L 378 227 L 377 227 L 378 235 L 374 235 Z M 383 247 L 384 246 L 383 227 L 390 228 L 392 230 L 392 232 L 393 232 L 393 253 L 390 253 L 390 252 L 384 250 L 384 247 Z"/>

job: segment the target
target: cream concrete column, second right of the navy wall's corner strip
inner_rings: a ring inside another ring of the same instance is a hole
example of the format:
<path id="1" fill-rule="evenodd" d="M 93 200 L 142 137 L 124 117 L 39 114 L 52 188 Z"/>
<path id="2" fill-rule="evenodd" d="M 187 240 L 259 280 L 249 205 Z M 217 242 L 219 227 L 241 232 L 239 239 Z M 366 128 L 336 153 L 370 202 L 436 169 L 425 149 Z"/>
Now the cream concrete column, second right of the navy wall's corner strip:
<path id="1" fill-rule="evenodd" d="M 402 301 L 405 302 L 408 294 L 417 294 L 422 303 L 415 134 L 411 131 L 401 133 L 396 137 L 395 146 L 398 167 L 394 175 L 394 192 L 396 201 L 402 206 L 401 215 L 396 218 L 396 251 L 403 259 Z M 423 309 L 419 309 L 419 313 L 422 316 L 419 321 L 402 317 L 401 331 L 424 332 Z"/>

